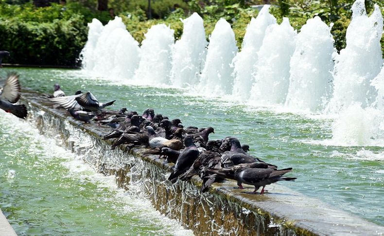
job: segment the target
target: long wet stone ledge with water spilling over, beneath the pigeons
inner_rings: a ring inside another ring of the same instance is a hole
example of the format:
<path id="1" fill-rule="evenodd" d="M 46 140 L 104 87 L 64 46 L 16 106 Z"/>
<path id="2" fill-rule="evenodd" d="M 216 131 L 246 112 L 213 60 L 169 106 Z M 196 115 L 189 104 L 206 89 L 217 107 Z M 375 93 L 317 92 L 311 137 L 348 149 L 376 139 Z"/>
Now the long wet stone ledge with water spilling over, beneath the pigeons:
<path id="1" fill-rule="evenodd" d="M 60 140 L 97 171 L 115 175 L 120 187 L 140 186 L 158 211 L 196 235 L 384 234 L 382 226 L 279 184 L 269 186 L 265 195 L 244 194 L 233 181 L 215 183 L 209 193 L 201 194 L 197 177 L 172 185 L 167 181 L 172 165 L 163 164 L 157 156 L 142 157 L 142 148 L 127 151 L 124 145 L 110 150 L 111 141 L 100 138 L 109 127 L 75 121 L 65 111 L 45 106 L 34 92 L 24 92 L 22 102 L 41 133 Z"/>

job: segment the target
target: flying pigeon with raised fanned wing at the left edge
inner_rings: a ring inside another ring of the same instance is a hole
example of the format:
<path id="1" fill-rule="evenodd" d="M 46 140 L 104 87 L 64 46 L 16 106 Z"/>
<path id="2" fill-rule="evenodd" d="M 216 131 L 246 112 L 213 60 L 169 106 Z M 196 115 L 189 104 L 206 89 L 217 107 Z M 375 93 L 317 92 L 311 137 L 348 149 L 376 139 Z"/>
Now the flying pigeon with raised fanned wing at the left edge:
<path id="1" fill-rule="evenodd" d="M 0 90 L 0 108 L 19 118 L 25 119 L 27 117 L 27 108 L 25 105 L 14 105 L 19 98 L 20 82 L 18 81 L 18 75 L 11 73 L 8 75 L 3 88 Z"/>

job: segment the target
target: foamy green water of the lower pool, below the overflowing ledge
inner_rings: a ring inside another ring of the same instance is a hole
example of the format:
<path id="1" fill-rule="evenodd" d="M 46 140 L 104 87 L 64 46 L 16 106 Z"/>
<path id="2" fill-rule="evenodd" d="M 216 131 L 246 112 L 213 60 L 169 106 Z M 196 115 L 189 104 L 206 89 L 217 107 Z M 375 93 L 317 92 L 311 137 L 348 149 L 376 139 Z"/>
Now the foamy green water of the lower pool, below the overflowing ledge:
<path id="1" fill-rule="evenodd" d="M 193 235 L 157 212 L 138 185 L 118 188 L 115 176 L 96 173 L 81 155 L 62 148 L 59 137 L 40 135 L 30 122 L 4 112 L 0 130 L 0 169 L 7 170 L 0 175 L 7 180 L 0 205 L 18 234 Z"/>

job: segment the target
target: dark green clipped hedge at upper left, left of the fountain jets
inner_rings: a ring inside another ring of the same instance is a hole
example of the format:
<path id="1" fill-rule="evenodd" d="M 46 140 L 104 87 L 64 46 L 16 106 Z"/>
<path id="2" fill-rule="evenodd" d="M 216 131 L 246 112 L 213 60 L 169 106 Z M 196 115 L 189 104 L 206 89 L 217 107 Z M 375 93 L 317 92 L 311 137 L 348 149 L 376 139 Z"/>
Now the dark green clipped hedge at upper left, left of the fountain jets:
<path id="1" fill-rule="evenodd" d="M 8 63 L 74 66 L 87 41 L 89 10 L 68 4 L 0 4 L 0 45 Z M 87 17 L 87 19 L 85 18 Z"/>

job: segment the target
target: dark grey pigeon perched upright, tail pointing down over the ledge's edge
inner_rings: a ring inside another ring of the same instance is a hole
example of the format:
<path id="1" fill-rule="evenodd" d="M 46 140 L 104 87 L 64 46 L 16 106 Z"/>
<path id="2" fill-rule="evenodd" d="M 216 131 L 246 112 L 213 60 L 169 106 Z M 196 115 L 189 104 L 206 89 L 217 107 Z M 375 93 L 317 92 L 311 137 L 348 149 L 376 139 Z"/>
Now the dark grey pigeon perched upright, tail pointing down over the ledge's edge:
<path id="1" fill-rule="evenodd" d="M 177 177 L 186 172 L 199 157 L 199 150 L 196 145 L 193 144 L 193 136 L 187 135 L 184 138 L 185 148 L 180 152 L 180 155 L 175 163 L 175 167 L 172 170 L 168 180 L 175 182 Z"/>

